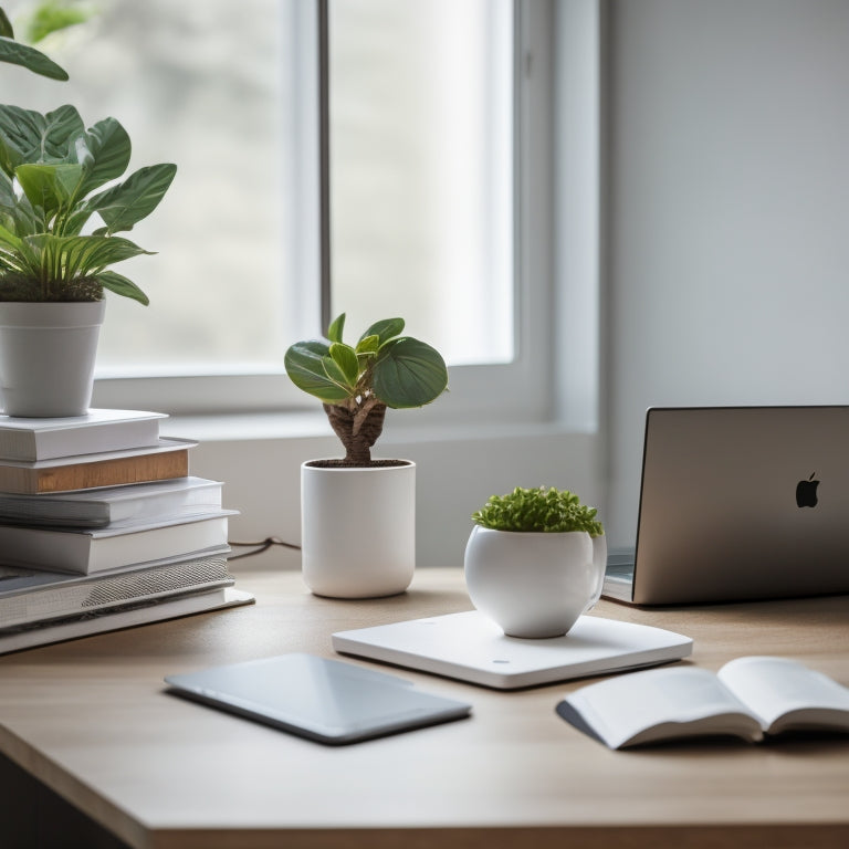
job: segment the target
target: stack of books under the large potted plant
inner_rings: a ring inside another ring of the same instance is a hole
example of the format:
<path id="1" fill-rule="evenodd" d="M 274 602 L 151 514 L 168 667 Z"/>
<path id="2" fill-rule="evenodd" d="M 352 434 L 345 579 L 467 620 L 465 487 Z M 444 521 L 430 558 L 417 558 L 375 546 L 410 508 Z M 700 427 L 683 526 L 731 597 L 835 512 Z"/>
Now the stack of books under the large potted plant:
<path id="1" fill-rule="evenodd" d="M 222 484 L 165 413 L 0 415 L 0 653 L 248 604 Z"/>

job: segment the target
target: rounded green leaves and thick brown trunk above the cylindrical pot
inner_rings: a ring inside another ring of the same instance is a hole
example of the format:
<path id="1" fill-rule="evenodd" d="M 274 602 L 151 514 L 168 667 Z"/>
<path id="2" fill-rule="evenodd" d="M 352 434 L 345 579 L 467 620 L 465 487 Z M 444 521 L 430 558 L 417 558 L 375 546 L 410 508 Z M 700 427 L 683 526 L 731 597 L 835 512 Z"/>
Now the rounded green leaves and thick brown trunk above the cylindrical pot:
<path id="1" fill-rule="evenodd" d="M 331 324 L 327 342 L 292 345 L 285 367 L 292 381 L 324 405 L 336 436 L 345 446 L 346 465 L 371 464 L 371 447 L 382 432 L 386 408 L 423 407 L 448 386 L 439 352 L 402 336 L 403 318 L 373 324 L 356 345 L 346 345 L 343 313 Z"/>

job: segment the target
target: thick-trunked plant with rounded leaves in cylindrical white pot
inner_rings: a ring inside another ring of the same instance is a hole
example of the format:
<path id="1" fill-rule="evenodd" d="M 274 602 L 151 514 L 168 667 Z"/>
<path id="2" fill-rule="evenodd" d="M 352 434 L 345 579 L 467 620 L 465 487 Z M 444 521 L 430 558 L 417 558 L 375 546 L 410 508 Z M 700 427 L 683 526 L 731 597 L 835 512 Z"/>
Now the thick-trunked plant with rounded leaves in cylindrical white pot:
<path id="1" fill-rule="evenodd" d="M 423 407 L 448 386 L 442 356 L 403 336 L 402 318 L 373 324 L 355 345 L 345 314 L 327 340 L 285 355 L 292 381 L 318 398 L 344 458 L 301 467 L 302 568 L 316 595 L 366 598 L 403 593 L 416 563 L 416 464 L 371 457 L 387 408 Z"/>

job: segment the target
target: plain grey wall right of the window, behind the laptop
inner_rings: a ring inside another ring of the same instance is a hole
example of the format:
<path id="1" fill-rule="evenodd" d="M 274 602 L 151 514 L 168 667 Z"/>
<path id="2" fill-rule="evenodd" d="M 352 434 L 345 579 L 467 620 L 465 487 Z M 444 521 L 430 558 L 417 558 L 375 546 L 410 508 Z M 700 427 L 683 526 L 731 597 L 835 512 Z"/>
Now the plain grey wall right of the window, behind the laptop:
<path id="1" fill-rule="evenodd" d="M 607 23 L 617 544 L 648 406 L 849 401 L 849 3 L 618 0 Z"/>

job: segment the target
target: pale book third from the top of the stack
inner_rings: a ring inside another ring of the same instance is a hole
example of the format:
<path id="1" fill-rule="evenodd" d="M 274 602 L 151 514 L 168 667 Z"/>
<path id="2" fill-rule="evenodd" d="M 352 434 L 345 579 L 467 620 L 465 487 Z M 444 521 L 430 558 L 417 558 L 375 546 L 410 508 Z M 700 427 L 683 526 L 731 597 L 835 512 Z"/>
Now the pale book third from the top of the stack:
<path id="1" fill-rule="evenodd" d="M 0 492 L 0 522 L 21 525 L 113 527 L 221 509 L 223 484 L 205 478 L 175 478 L 132 486 L 24 495 Z"/>

